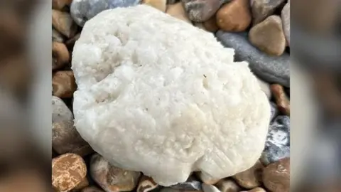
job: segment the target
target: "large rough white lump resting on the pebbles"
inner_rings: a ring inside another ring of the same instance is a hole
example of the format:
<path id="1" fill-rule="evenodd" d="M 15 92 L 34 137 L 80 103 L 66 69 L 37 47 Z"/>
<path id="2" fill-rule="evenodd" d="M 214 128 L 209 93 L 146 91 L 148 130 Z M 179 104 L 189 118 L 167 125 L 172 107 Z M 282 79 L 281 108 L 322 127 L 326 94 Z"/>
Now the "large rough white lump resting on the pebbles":
<path id="1" fill-rule="evenodd" d="M 75 126 L 114 166 L 156 183 L 254 165 L 270 106 L 245 62 L 211 33 L 139 5 L 88 21 L 72 55 Z"/>

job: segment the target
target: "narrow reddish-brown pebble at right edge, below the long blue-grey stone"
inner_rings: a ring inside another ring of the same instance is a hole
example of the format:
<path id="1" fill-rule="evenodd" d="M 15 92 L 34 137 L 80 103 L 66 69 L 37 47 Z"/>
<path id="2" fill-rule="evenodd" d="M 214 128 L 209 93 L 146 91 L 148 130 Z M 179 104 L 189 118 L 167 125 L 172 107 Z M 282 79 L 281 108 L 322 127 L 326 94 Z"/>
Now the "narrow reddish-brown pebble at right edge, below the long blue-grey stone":
<path id="1" fill-rule="evenodd" d="M 270 86 L 271 92 L 274 95 L 278 109 L 288 116 L 290 116 L 290 101 L 286 96 L 286 92 L 282 85 L 273 84 Z"/>

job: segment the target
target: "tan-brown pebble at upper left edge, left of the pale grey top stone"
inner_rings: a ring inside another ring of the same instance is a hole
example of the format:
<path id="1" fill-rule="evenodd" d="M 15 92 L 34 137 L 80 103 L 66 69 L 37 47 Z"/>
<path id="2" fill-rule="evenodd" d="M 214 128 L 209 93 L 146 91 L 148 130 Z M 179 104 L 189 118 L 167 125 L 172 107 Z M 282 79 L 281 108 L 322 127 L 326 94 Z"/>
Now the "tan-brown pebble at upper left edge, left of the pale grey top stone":
<path id="1" fill-rule="evenodd" d="M 67 12 L 52 10 L 52 26 L 67 38 L 72 38 L 77 33 L 77 25 Z"/>

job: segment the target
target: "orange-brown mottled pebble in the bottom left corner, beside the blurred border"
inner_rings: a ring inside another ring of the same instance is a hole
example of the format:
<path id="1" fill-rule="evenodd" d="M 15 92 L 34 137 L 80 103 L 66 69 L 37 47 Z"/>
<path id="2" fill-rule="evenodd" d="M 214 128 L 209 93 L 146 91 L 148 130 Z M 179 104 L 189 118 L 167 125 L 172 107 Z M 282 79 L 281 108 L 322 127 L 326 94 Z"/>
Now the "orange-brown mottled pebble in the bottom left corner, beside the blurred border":
<path id="1" fill-rule="evenodd" d="M 58 191 L 70 191 L 87 175 L 87 166 L 77 154 L 63 154 L 52 160 L 52 185 Z"/>

